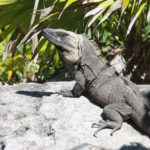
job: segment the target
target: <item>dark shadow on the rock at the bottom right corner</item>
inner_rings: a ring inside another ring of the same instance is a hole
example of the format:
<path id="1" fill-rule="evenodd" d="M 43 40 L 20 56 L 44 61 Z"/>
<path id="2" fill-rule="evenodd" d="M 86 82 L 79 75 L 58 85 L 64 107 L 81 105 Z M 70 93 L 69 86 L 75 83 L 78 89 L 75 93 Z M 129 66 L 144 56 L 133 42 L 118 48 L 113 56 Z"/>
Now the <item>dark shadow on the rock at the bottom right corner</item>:
<path id="1" fill-rule="evenodd" d="M 150 150 L 140 143 L 131 143 L 131 145 L 124 145 L 119 150 Z"/>

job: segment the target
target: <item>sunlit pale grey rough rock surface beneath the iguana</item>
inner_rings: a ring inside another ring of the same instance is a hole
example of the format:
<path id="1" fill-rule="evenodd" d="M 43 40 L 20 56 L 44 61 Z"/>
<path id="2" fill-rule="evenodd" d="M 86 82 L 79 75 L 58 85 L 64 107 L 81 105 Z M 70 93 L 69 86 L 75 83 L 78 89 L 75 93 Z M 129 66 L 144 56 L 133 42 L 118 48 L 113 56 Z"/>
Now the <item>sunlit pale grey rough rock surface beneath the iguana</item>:
<path id="1" fill-rule="evenodd" d="M 131 124 L 111 130 L 91 128 L 102 109 L 86 97 L 66 98 L 57 92 L 73 81 L 0 85 L 1 150 L 149 150 L 150 138 Z"/>

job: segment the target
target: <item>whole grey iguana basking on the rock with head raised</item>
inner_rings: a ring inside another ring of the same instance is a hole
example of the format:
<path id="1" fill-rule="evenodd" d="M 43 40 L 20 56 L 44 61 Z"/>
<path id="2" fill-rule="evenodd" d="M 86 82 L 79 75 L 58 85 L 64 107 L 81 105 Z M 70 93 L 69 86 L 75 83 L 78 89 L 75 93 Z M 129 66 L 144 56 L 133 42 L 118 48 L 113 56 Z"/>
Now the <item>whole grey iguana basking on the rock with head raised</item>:
<path id="1" fill-rule="evenodd" d="M 112 129 L 113 135 L 128 119 L 150 135 L 150 109 L 138 88 L 99 58 L 94 44 L 87 37 L 63 29 L 44 29 L 43 35 L 74 70 L 76 83 L 73 89 L 61 91 L 61 94 L 79 97 L 86 90 L 93 101 L 104 107 L 106 120 L 92 125 L 98 128 L 94 136 L 104 128 Z"/>

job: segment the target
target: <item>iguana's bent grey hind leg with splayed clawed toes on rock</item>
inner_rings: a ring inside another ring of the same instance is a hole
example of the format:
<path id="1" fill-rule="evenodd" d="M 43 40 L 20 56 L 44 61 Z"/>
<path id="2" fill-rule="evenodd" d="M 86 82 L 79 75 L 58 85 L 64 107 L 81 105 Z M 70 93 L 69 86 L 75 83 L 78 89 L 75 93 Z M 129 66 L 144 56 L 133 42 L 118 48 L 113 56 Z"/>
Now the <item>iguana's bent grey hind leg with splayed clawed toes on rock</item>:
<path id="1" fill-rule="evenodd" d="M 112 103 L 104 107 L 103 114 L 106 121 L 99 121 L 99 123 L 94 123 L 92 127 L 97 126 L 97 130 L 94 133 L 96 137 L 98 132 L 109 128 L 112 129 L 110 135 L 112 136 L 117 130 L 122 127 L 123 119 L 128 119 L 131 114 L 131 108 L 125 103 Z"/>

